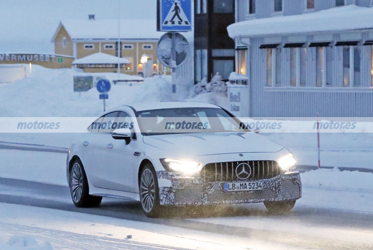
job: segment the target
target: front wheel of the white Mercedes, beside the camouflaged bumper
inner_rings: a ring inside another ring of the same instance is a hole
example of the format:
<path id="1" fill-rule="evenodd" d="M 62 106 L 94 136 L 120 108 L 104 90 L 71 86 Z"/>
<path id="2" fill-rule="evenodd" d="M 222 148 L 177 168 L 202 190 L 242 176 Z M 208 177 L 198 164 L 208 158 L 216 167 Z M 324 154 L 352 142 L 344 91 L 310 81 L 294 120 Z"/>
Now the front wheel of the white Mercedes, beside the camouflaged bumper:
<path id="1" fill-rule="evenodd" d="M 154 167 L 148 163 L 141 171 L 139 193 L 142 211 L 148 217 L 160 216 L 158 179 Z"/>

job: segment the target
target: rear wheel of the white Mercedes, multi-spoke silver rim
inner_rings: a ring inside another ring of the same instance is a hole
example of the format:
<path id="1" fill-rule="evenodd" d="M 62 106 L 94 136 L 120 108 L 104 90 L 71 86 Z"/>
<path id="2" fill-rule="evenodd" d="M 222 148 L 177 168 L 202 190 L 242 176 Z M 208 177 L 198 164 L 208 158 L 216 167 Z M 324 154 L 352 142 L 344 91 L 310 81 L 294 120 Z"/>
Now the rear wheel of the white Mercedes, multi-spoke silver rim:
<path id="1" fill-rule="evenodd" d="M 70 172 L 70 194 L 77 207 L 97 207 L 101 204 L 101 196 L 89 195 L 87 175 L 79 159 L 73 162 Z"/>

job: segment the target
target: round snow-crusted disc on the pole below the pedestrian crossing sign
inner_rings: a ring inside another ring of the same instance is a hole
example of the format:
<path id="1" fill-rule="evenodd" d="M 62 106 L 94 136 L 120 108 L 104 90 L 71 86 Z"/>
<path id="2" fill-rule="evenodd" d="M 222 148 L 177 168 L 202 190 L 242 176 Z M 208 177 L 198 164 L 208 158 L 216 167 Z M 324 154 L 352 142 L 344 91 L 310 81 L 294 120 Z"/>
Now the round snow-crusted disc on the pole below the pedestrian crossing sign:
<path id="1" fill-rule="evenodd" d="M 157 42 L 157 57 L 167 68 L 181 67 L 186 62 L 189 51 L 188 40 L 180 33 L 168 32 Z"/>

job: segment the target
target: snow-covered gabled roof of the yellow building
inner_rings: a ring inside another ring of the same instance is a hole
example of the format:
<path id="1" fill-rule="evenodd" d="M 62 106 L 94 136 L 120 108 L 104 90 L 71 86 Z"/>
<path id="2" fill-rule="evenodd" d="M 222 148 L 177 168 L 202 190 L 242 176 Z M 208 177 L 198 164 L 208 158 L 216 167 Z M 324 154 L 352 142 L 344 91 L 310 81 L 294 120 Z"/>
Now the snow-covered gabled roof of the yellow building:
<path id="1" fill-rule="evenodd" d="M 110 39 L 118 38 L 118 20 L 62 20 L 52 37 L 56 38 L 61 27 L 65 27 L 71 39 Z M 124 39 L 158 39 L 163 32 L 157 31 L 156 20 L 124 19 L 120 20 L 120 38 Z"/>

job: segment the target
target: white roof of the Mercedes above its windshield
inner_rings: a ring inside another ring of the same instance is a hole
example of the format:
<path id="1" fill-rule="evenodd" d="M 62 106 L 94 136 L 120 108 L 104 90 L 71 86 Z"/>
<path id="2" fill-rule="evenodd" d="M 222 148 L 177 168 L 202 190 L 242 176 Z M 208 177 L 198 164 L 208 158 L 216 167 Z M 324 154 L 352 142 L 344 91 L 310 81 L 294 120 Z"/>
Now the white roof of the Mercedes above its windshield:
<path id="1" fill-rule="evenodd" d="M 122 105 L 114 108 L 120 109 L 123 106 L 134 108 L 136 111 L 144 111 L 149 109 L 164 109 L 164 108 L 220 108 L 214 104 L 206 102 L 193 102 L 193 101 L 173 101 L 173 102 L 136 102 L 128 105 Z"/>

